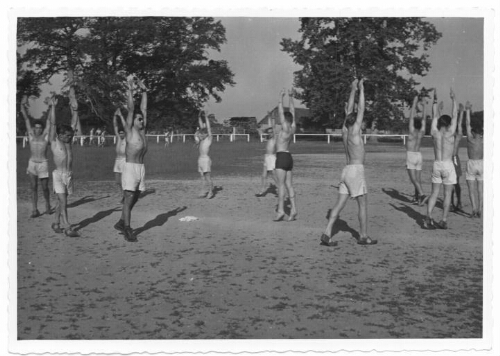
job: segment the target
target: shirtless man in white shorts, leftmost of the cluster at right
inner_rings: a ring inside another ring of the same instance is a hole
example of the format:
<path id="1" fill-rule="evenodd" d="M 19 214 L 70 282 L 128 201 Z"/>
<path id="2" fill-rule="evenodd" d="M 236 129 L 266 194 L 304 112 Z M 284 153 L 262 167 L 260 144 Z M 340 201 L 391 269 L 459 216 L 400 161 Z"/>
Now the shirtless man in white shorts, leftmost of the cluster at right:
<path id="1" fill-rule="evenodd" d="M 420 145 L 422 137 L 425 135 L 425 107 L 422 109 L 422 116 L 415 119 L 415 114 L 423 102 L 418 102 L 418 95 L 413 98 L 413 105 L 410 111 L 410 123 L 408 128 L 408 142 L 406 145 L 406 169 L 410 181 L 415 187 L 415 199 L 413 202 L 423 205 L 427 202 L 427 197 L 422 189 L 422 153 Z"/>

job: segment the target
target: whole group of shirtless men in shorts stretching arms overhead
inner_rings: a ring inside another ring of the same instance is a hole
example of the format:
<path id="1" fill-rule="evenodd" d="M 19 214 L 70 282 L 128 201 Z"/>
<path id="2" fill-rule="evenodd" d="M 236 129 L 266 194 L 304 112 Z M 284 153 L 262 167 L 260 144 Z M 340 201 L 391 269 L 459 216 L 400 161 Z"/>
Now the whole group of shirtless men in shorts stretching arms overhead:
<path id="1" fill-rule="evenodd" d="M 346 154 L 346 166 L 342 170 L 339 184 L 338 200 L 330 211 L 328 223 L 324 233 L 320 237 L 322 245 L 336 246 L 337 241 L 332 240 L 332 229 L 345 207 L 349 198 L 358 203 L 358 219 L 360 234 L 357 242 L 360 245 L 374 245 L 377 240 L 368 235 L 368 204 L 367 185 L 364 173 L 365 149 L 362 139 L 362 124 L 365 111 L 364 82 L 365 78 L 355 79 L 351 83 L 349 100 L 346 103 L 345 119 L 342 125 L 342 140 Z M 134 112 L 134 90 L 141 92 L 140 113 Z M 359 91 L 358 103 L 355 105 L 356 92 Z M 290 212 L 287 221 L 294 221 L 298 211 L 295 201 L 295 191 L 292 183 L 293 158 L 289 151 L 289 145 L 296 131 L 296 118 L 293 103 L 293 93 L 289 92 L 289 111 L 284 110 L 283 99 L 286 95 L 283 89 L 278 102 L 278 115 L 281 129 L 278 130 L 274 118 L 269 117 L 270 128 L 267 133 L 269 138 L 266 143 L 264 156 L 264 168 L 262 173 L 261 191 L 257 196 L 263 196 L 266 191 L 266 179 L 269 173 L 278 188 L 278 207 L 274 221 L 285 219 L 285 197 L 288 193 Z M 434 101 L 432 106 L 431 136 L 434 142 L 435 161 L 432 172 L 432 192 L 429 197 L 424 194 L 421 183 L 422 155 L 420 146 L 425 135 L 425 106 L 423 96 L 415 96 L 410 111 L 409 136 L 407 144 L 407 170 L 411 182 L 415 187 L 414 202 L 423 205 L 427 202 L 427 216 L 423 221 L 426 229 L 447 229 L 447 215 L 450 208 L 452 193 L 457 184 L 457 170 L 459 166 L 458 147 L 462 136 L 461 123 L 463 114 L 466 114 L 467 151 L 469 161 L 467 163 L 466 179 L 469 186 L 470 199 L 472 203 L 472 217 L 482 216 L 482 165 L 483 165 L 483 129 L 482 122 L 471 124 L 471 105 L 467 102 L 465 110 L 460 104 L 459 114 L 455 102 L 455 94 L 451 91 L 452 115 L 441 115 L 438 111 L 437 93 L 434 90 Z M 49 114 L 46 127 L 41 120 L 36 120 L 34 127 L 31 126 L 27 115 L 28 101 L 24 97 L 21 102 L 21 113 L 26 122 L 29 133 L 29 144 L 31 157 L 27 173 L 30 175 L 32 186 L 33 209 L 31 217 L 40 216 L 37 209 L 37 183 L 40 179 L 43 195 L 46 202 L 46 214 L 51 214 L 50 194 L 48 190 L 48 162 L 46 158 L 47 147 L 50 143 L 54 164 L 56 169 L 52 173 L 54 192 L 57 195 L 57 206 L 55 209 L 55 221 L 52 229 L 57 233 L 65 233 L 67 236 L 79 236 L 68 221 L 67 196 L 72 194 L 72 141 L 75 131 L 80 128 L 78 118 L 78 103 L 76 101 L 73 87 L 70 87 L 70 109 L 71 126 L 57 125 L 55 118 L 55 106 L 57 100 L 52 97 L 49 101 Z M 355 111 L 355 108 L 357 110 Z M 442 108 L 442 104 L 440 104 Z M 137 241 L 130 227 L 131 213 L 134 205 L 139 199 L 140 193 L 145 191 L 145 168 L 144 156 L 147 152 L 147 88 L 142 80 L 135 76 L 127 78 L 127 118 L 125 119 L 118 108 L 113 116 L 113 126 L 116 141 L 116 160 L 114 173 L 116 182 L 122 194 L 122 215 L 114 225 L 129 242 Z M 417 115 L 419 114 L 419 115 Z M 457 117 L 458 123 L 457 123 Z M 212 144 L 212 132 L 210 120 L 205 116 L 203 110 L 198 115 L 199 130 L 195 133 L 195 141 L 199 148 L 198 171 L 201 176 L 202 191 L 200 198 L 211 199 L 215 191 L 211 178 L 212 161 L 209 150 Z M 457 128 L 458 127 L 458 128 Z M 457 163 L 458 162 L 458 163 Z M 461 171 L 461 168 L 459 169 Z M 432 212 L 436 205 L 441 185 L 444 185 L 443 217 L 439 222 L 434 222 Z M 476 200 L 476 195 L 477 200 Z M 460 193 L 457 194 L 457 208 L 461 209 Z M 62 225 L 62 227 L 61 227 Z"/>

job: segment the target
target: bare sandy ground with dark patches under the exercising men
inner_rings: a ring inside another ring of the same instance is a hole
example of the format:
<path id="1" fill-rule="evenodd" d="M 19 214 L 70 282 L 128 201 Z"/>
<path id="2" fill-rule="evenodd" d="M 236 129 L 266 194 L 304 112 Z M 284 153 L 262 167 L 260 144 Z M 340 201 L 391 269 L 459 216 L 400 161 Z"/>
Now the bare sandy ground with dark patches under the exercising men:
<path id="1" fill-rule="evenodd" d="M 432 152 L 423 153 L 429 192 Z M 369 153 L 379 244 L 356 244 L 351 201 L 334 227 L 339 245 L 324 247 L 345 159 L 294 160 L 297 221 L 273 222 L 277 198 L 255 197 L 256 161 L 253 177 L 214 172 L 211 200 L 196 198 L 197 181 L 148 181 L 133 210 L 136 243 L 113 229 L 113 182 L 76 182 L 79 238 L 54 233 L 52 216 L 27 218 L 29 187 L 18 187 L 18 339 L 481 338 L 482 219 L 450 213 L 449 230 L 423 230 L 404 150 Z"/>

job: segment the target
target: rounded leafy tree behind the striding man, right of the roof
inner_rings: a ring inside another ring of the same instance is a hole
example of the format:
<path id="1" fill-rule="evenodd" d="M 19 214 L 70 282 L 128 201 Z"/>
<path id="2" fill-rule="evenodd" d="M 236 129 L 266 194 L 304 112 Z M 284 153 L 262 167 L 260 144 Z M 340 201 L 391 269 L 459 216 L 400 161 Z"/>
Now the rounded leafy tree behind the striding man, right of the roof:
<path id="1" fill-rule="evenodd" d="M 415 93 L 414 76 L 430 68 L 425 51 L 441 37 L 420 18 L 301 18 L 302 38 L 283 39 L 283 51 L 303 68 L 297 93 L 314 120 L 339 128 L 353 77 L 367 78 L 366 120 L 390 128 Z"/>

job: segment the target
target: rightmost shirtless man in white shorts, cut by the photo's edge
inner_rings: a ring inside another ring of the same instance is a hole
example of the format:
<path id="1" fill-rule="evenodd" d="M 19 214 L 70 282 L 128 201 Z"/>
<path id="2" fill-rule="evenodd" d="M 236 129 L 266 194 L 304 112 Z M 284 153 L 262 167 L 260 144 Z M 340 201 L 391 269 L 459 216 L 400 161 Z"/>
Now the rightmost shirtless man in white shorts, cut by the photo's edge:
<path id="1" fill-rule="evenodd" d="M 469 187 L 469 197 L 472 204 L 472 218 L 483 216 L 483 122 L 471 124 L 470 113 L 472 105 L 465 104 L 465 126 L 467 130 L 467 169 L 465 179 Z M 476 184 L 477 181 L 477 184 Z M 478 201 L 476 201 L 476 194 Z"/>

